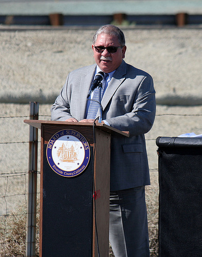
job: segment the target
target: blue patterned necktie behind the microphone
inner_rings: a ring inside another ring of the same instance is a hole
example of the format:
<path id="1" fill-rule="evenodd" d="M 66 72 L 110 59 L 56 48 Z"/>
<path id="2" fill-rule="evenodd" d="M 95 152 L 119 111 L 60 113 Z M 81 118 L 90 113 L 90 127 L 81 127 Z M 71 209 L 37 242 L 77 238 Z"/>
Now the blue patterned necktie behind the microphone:
<path id="1" fill-rule="evenodd" d="M 103 91 L 105 89 L 105 84 L 106 84 L 106 78 L 108 76 L 108 73 L 105 73 L 104 75 L 104 79 L 101 81 L 101 83 L 103 84 L 102 90 L 101 90 L 101 100 L 103 98 Z M 99 89 L 98 86 L 94 89 L 93 91 L 93 97 L 92 100 L 96 100 L 99 101 Z M 95 119 L 96 115 L 97 115 L 97 111 L 99 108 L 99 104 L 95 101 L 90 101 L 89 104 L 89 108 L 88 108 L 88 113 L 87 113 L 87 119 Z"/>

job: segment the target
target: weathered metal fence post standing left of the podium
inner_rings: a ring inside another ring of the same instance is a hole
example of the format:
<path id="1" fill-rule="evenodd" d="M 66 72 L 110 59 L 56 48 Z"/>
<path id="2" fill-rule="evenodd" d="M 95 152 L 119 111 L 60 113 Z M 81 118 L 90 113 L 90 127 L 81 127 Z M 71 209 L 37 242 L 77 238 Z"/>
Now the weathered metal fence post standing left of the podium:
<path id="1" fill-rule="evenodd" d="M 30 102 L 30 119 L 38 120 L 38 103 Z M 36 241 L 36 194 L 37 194 L 37 148 L 38 129 L 30 126 L 29 131 L 29 178 L 26 256 L 34 257 Z"/>

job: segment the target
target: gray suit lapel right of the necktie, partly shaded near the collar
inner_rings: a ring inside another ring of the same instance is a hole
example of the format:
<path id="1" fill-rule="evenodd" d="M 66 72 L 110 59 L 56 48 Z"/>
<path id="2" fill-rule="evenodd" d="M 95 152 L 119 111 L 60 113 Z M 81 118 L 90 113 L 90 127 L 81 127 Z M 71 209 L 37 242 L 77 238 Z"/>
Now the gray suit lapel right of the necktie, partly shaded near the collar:
<path id="1" fill-rule="evenodd" d="M 103 110 L 106 108 L 107 104 L 109 103 L 110 99 L 114 95 L 117 88 L 126 79 L 124 75 L 126 75 L 126 63 L 123 60 L 122 64 L 114 72 L 113 78 L 111 79 L 109 85 L 107 86 L 105 94 L 103 95 L 103 99 L 102 99 Z"/>

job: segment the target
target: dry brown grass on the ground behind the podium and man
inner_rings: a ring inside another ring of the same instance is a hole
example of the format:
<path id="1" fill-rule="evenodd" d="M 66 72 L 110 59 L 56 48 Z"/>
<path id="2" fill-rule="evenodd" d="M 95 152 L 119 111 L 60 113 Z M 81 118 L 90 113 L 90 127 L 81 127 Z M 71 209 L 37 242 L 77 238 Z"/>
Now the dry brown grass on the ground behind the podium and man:
<path id="1" fill-rule="evenodd" d="M 150 256 L 158 256 L 157 224 L 158 205 L 155 187 L 146 189 L 148 224 L 150 237 Z M 26 256 L 26 222 L 27 211 L 25 205 L 19 205 L 17 210 L 0 217 L 0 256 L 24 257 Z M 39 256 L 39 203 L 37 204 L 36 224 L 36 257 Z M 109 256 L 114 257 L 109 245 Z"/>

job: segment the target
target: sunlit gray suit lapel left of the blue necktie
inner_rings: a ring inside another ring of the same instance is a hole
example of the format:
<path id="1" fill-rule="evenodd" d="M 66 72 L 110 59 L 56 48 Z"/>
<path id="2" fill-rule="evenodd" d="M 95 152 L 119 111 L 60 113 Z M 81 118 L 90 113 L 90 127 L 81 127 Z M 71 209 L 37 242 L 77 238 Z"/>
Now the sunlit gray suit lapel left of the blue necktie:
<path id="1" fill-rule="evenodd" d="M 89 66 L 89 71 L 85 76 L 82 76 L 80 80 L 80 90 L 78 96 L 78 104 L 79 104 L 79 120 L 82 120 L 86 116 L 86 105 L 87 105 L 87 95 L 94 78 L 96 65 Z"/>

